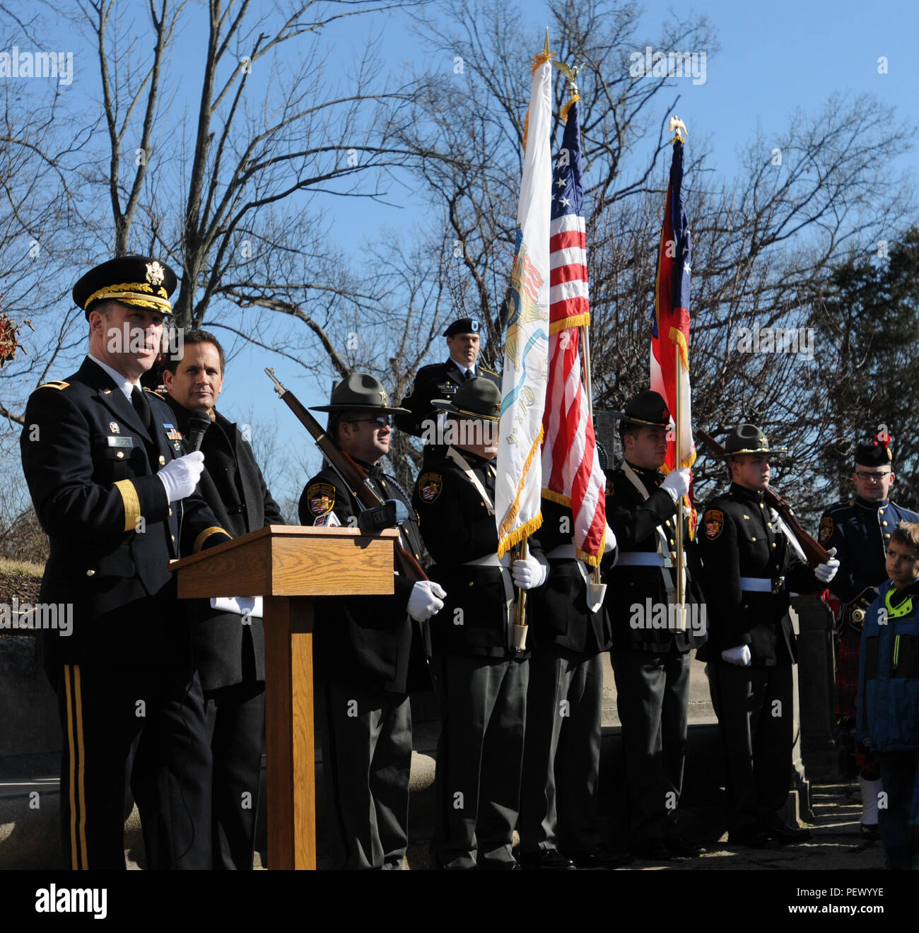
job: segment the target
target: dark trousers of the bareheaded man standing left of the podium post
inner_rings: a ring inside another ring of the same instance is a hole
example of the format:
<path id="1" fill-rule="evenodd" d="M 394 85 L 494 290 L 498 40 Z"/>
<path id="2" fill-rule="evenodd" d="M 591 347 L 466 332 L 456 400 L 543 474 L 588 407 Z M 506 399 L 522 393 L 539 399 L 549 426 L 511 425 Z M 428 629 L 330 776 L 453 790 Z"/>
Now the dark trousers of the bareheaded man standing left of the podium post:
<path id="1" fill-rule="evenodd" d="M 204 710 L 213 759 L 214 868 L 249 870 L 265 746 L 265 682 L 205 690 Z"/>

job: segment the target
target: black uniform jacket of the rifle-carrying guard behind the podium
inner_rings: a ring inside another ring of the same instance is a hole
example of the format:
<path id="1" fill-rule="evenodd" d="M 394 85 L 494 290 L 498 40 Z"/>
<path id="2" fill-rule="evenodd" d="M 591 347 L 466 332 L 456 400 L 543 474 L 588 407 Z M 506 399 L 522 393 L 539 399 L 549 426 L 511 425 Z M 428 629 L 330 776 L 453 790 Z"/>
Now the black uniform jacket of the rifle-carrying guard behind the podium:
<path id="1" fill-rule="evenodd" d="M 402 522 L 402 539 L 416 560 L 421 554 L 418 519 L 409 497 L 397 481 L 380 466 L 357 461 L 372 488 L 383 499 L 397 499 L 409 508 Z M 357 527 L 360 507 L 330 466 L 310 480 L 299 500 L 299 521 L 303 525 L 325 525 L 334 512 L 343 527 Z M 342 567 L 344 575 L 348 567 Z M 355 579 L 355 588 L 360 581 Z M 406 693 L 429 689 L 423 643 L 417 623 L 406 612 L 411 580 L 396 576 L 392 596 L 349 596 L 315 601 L 316 671 L 341 684 L 363 689 Z"/>

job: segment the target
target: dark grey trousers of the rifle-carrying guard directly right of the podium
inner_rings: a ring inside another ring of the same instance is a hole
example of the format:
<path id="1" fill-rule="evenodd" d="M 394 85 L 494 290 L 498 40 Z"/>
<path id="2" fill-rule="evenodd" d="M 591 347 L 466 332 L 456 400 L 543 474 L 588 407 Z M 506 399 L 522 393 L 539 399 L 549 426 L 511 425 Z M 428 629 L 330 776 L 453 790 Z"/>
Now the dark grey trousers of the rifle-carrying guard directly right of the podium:
<path id="1" fill-rule="evenodd" d="M 329 838 L 338 869 L 401 869 L 408 847 L 408 694 L 318 681 Z"/>

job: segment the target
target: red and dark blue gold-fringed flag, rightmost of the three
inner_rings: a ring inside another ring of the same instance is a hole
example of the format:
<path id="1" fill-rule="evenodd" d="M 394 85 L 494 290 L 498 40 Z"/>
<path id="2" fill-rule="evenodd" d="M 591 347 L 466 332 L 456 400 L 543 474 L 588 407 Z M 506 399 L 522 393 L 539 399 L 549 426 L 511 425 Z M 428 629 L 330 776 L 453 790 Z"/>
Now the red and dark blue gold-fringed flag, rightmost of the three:
<path id="1" fill-rule="evenodd" d="M 672 127 L 673 128 L 673 127 Z M 670 166 L 670 184 L 663 212 L 655 286 L 655 317 L 651 332 L 651 389 L 659 393 L 676 415 L 676 385 L 680 385 L 679 432 L 682 464 L 692 466 L 696 446 L 692 438 L 689 398 L 689 219 L 683 211 L 683 141 L 677 134 Z M 679 348 L 679 364 L 676 362 Z M 676 444 L 667 447 L 666 471 L 676 465 Z"/>

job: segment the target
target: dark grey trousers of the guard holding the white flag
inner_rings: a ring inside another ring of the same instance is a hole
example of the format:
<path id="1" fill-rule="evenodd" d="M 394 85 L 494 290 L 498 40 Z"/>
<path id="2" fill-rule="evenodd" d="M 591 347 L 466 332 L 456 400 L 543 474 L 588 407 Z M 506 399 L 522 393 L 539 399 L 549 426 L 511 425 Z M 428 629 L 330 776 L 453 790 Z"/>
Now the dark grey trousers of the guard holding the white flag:
<path id="1" fill-rule="evenodd" d="M 529 663 L 434 658 L 440 737 L 432 849 L 440 868 L 514 861 Z"/>

